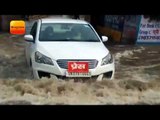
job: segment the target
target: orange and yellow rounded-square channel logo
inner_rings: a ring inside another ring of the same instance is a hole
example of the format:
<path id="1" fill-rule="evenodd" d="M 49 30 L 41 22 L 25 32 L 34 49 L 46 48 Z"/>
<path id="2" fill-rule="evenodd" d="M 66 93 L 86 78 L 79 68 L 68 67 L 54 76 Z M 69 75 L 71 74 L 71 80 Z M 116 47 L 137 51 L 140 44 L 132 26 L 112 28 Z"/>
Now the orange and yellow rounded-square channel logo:
<path id="1" fill-rule="evenodd" d="M 26 25 L 23 20 L 12 20 L 10 22 L 10 33 L 16 35 L 23 35 L 26 32 Z"/>

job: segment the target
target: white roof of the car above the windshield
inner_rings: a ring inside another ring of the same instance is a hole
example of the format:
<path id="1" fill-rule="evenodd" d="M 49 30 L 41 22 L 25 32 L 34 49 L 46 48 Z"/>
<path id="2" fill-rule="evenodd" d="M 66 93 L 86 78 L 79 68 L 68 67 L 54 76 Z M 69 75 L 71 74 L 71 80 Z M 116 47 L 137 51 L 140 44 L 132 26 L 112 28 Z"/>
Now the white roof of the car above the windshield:
<path id="1" fill-rule="evenodd" d="M 42 18 L 42 23 L 76 23 L 76 24 L 88 24 L 88 22 L 79 19 L 71 18 Z"/>

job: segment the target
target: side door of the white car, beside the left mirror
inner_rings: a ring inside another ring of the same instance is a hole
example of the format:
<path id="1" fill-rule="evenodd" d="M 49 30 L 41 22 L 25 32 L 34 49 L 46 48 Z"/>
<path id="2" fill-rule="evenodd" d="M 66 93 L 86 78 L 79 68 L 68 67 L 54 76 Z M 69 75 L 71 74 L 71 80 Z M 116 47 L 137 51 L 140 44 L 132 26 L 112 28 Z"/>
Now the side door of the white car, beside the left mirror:
<path id="1" fill-rule="evenodd" d="M 37 34 L 37 22 L 35 22 L 31 28 L 30 35 L 33 36 L 34 42 L 27 42 L 26 45 L 26 57 L 27 57 L 27 63 L 30 63 L 31 59 L 31 54 L 33 52 L 33 48 L 35 46 L 35 39 L 36 39 L 36 34 Z"/>

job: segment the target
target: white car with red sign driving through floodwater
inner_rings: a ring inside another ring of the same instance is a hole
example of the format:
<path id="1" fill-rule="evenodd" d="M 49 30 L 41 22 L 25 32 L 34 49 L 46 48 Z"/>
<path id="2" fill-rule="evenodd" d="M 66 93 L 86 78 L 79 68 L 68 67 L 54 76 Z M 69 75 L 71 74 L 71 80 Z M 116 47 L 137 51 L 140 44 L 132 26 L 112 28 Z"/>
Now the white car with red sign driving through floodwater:
<path id="1" fill-rule="evenodd" d="M 26 61 L 33 77 L 113 79 L 114 58 L 86 21 L 43 18 L 24 36 Z"/>

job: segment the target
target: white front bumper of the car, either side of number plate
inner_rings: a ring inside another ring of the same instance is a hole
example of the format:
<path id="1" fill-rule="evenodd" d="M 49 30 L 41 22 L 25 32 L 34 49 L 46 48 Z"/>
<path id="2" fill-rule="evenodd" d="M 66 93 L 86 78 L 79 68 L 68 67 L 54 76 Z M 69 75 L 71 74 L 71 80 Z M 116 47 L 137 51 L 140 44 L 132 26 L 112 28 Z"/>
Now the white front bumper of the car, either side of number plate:
<path id="1" fill-rule="evenodd" d="M 47 64 L 41 64 L 37 63 L 35 61 L 32 62 L 32 67 L 33 67 L 33 74 L 35 79 L 40 79 L 39 72 L 45 72 L 51 75 L 55 76 L 66 76 L 66 71 L 67 69 L 60 68 L 57 62 L 54 62 L 54 65 L 47 65 Z M 105 73 L 111 73 L 109 79 L 114 78 L 114 73 L 115 73 L 115 64 L 114 61 L 111 64 L 106 64 L 101 66 L 100 63 L 97 65 L 96 68 L 94 69 L 89 69 L 89 72 L 91 73 L 91 77 L 93 76 L 100 76 Z"/>

